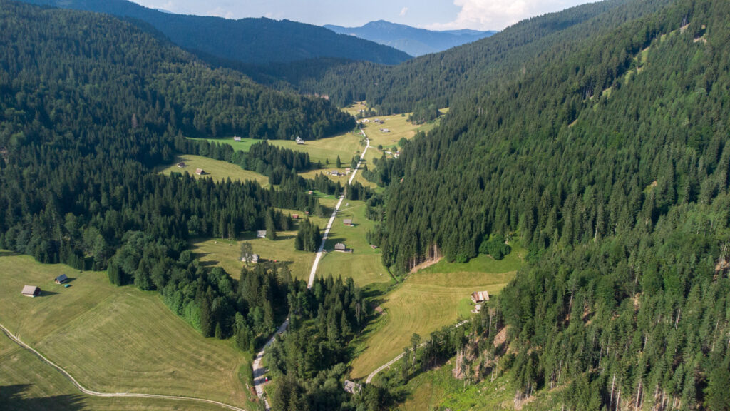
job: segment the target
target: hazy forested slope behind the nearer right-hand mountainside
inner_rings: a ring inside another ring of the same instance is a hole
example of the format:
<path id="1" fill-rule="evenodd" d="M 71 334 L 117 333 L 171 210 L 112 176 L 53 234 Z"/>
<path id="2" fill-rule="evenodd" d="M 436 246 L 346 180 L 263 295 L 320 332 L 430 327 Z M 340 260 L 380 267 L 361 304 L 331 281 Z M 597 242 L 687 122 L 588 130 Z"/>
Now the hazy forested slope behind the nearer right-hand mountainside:
<path id="1" fill-rule="evenodd" d="M 291 76 L 301 91 L 328 94 L 338 105 L 367 100 L 380 113 L 407 113 L 420 106 L 445 108 L 486 83 L 520 78 L 596 35 L 653 12 L 666 0 L 608 0 L 583 4 L 510 26 L 504 31 L 442 53 L 394 67 L 367 62 L 337 64 Z"/>

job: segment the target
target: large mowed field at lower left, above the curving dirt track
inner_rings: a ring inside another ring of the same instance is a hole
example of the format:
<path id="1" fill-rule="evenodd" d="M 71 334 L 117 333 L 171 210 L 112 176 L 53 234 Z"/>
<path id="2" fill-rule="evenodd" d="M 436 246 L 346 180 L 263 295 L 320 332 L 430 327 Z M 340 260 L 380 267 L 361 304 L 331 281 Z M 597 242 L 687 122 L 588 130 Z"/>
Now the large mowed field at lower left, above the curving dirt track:
<path id="1" fill-rule="evenodd" d="M 59 274 L 71 287 L 53 283 Z M 157 293 L 10 252 L 0 252 L 0 283 L 0 323 L 87 388 L 247 403 L 244 355 L 231 342 L 205 339 Z M 20 295 L 26 284 L 42 296 Z"/>

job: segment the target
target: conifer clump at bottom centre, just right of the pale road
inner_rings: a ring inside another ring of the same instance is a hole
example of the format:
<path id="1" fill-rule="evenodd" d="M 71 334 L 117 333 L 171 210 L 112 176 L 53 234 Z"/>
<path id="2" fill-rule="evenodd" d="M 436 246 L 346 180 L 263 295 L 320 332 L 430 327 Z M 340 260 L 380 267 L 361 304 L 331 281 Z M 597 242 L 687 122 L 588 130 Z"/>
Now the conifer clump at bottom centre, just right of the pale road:
<path id="1" fill-rule="evenodd" d="M 355 409 L 339 380 L 347 372 L 347 348 L 366 323 L 362 290 L 353 279 L 318 277 L 311 288 L 304 282 L 289 294 L 289 329 L 266 351 L 277 383 L 274 410 Z"/>

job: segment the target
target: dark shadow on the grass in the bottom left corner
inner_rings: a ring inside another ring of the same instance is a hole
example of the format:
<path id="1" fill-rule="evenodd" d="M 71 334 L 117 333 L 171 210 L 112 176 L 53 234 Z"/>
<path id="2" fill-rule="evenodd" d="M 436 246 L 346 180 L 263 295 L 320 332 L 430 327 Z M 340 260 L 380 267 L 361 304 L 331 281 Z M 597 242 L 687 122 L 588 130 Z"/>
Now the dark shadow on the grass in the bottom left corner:
<path id="1" fill-rule="evenodd" d="M 83 396 L 66 394 L 42 398 L 26 398 L 31 384 L 0 385 L 0 404 L 3 410 L 58 410 L 75 411 L 86 409 Z"/>

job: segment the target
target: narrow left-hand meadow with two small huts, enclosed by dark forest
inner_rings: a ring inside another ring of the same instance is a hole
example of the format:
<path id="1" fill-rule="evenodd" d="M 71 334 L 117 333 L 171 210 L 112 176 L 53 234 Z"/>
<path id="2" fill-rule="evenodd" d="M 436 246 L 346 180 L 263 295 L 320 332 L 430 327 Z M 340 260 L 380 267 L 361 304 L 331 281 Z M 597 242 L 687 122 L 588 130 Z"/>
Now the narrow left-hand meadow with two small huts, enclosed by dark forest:
<path id="1" fill-rule="evenodd" d="M 185 168 L 177 167 L 178 162 L 185 162 L 188 166 Z M 205 171 L 204 176 L 197 176 L 195 173 L 196 168 L 202 168 Z M 172 165 L 162 166 L 159 170 L 163 174 L 185 173 L 185 171 L 196 178 L 212 178 L 215 181 L 225 181 L 226 178 L 231 178 L 234 181 L 254 180 L 258 181 L 258 184 L 261 184 L 261 186 L 269 186 L 269 178 L 261 176 L 261 174 L 244 170 L 238 165 L 229 162 L 188 154 L 175 157 L 175 162 Z"/>

